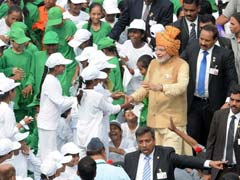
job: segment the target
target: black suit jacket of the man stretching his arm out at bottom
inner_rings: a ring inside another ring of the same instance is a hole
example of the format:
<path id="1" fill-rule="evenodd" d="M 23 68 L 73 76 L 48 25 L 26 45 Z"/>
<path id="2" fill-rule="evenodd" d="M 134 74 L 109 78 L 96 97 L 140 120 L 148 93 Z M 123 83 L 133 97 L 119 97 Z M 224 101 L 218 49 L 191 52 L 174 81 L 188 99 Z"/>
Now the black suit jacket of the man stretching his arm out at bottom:
<path id="1" fill-rule="evenodd" d="M 124 169 L 131 180 L 136 179 L 139 156 L 140 151 L 135 151 L 125 156 Z M 177 155 L 171 147 L 155 146 L 153 155 L 153 180 L 157 180 L 159 169 L 167 173 L 167 180 L 174 180 L 175 167 L 203 169 L 204 162 L 204 159 L 197 157 Z"/>

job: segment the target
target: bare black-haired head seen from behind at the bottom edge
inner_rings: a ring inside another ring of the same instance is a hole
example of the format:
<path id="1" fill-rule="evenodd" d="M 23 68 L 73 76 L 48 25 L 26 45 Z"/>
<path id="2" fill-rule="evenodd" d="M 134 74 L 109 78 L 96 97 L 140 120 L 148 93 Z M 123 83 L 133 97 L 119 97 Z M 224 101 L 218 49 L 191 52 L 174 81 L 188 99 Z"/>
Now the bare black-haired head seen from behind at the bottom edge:
<path id="1" fill-rule="evenodd" d="M 82 180 L 94 180 L 96 170 L 96 162 L 90 156 L 85 156 L 78 163 L 78 174 Z"/>

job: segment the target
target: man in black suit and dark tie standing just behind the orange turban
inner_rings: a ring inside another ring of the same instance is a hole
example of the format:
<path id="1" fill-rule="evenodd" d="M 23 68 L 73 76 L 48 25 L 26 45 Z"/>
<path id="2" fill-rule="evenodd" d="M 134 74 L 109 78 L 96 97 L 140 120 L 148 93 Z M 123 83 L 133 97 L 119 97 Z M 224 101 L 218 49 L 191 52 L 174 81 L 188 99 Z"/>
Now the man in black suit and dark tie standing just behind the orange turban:
<path id="1" fill-rule="evenodd" d="M 183 13 L 184 17 L 175 21 L 173 26 L 181 30 L 178 39 L 181 41 L 179 52 L 182 53 L 187 45 L 199 37 L 199 19 L 200 11 L 199 0 L 184 0 Z"/>

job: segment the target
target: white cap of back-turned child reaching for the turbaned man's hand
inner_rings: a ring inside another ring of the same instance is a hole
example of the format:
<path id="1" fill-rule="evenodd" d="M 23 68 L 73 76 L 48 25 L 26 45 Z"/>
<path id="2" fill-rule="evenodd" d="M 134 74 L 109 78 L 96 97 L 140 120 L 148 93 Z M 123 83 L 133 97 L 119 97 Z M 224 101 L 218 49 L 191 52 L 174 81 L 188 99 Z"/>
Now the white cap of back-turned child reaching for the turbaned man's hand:
<path id="1" fill-rule="evenodd" d="M 107 73 L 98 70 L 96 66 L 88 65 L 83 69 L 81 76 L 83 81 L 89 81 L 94 79 L 106 79 Z"/>

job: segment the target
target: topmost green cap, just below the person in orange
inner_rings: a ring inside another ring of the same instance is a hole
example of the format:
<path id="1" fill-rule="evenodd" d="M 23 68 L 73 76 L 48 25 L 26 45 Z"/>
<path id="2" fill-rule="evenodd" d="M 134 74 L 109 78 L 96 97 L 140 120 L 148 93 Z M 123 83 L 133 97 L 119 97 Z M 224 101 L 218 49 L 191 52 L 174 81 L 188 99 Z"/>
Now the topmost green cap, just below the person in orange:
<path id="1" fill-rule="evenodd" d="M 48 26 L 58 25 L 62 22 L 62 10 L 59 7 L 52 7 L 48 11 Z"/>

